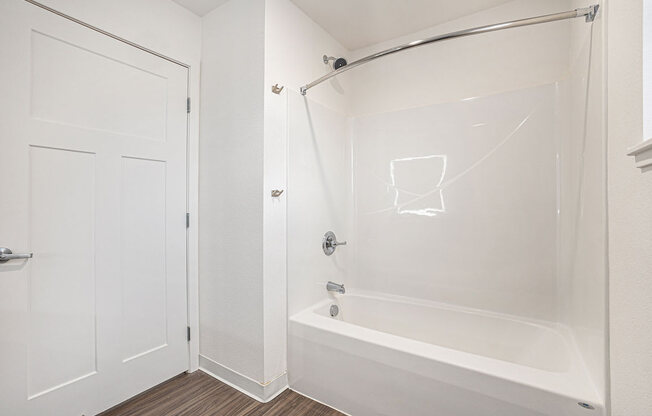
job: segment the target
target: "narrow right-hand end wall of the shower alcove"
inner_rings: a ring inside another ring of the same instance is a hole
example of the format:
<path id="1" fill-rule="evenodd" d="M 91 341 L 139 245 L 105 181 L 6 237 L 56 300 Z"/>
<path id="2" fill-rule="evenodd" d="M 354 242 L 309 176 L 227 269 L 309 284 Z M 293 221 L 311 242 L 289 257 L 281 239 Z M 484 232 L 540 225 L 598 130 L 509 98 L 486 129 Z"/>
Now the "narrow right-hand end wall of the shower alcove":
<path id="1" fill-rule="evenodd" d="M 574 7 L 585 6 L 581 0 Z M 561 84 L 567 131 L 560 152 L 560 320 L 573 331 L 606 396 L 606 94 L 604 10 L 571 25 L 570 77 Z"/>

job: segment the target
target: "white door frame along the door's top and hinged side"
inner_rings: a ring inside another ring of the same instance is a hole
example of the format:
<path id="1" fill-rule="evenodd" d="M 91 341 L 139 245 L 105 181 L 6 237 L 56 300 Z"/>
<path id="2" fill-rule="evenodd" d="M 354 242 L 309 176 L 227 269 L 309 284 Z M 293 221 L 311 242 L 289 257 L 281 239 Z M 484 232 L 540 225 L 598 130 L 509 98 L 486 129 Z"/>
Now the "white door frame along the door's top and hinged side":
<path id="1" fill-rule="evenodd" d="M 187 91 L 188 98 L 190 99 L 190 108 L 186 122 L 186 212 L 190 215 L 189 226 L 186 228 L 186 301 L 187 325 L 190 328 L 188 372 L 192 373 L 199 368 L 199 61 L 188 64 L 142 46 L 137 42 L 93 26 L 37 1 L 24 1 L 116 41 L 186 68 Z M 179 220 L 181 221 L 182 219 Z"/>

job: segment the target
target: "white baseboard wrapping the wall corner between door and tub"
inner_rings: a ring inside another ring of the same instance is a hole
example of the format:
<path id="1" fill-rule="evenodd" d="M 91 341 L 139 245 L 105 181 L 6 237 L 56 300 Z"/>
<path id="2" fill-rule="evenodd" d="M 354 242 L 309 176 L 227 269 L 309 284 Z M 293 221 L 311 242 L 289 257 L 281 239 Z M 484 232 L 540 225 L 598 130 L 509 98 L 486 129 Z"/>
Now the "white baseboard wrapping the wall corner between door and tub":
<path id="1" fill-rule="evenodd" d="M 267 403 L 288 388 L 287 373 L 261 384 L 201 354 L 199 355 L 199 369 L 261 403 Z"/>

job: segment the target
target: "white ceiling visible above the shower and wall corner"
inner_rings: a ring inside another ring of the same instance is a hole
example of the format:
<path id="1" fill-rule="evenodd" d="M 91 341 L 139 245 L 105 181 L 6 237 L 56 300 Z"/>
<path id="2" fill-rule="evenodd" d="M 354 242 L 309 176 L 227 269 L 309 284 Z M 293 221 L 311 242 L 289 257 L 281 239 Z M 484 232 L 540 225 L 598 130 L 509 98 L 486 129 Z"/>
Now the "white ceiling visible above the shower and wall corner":
<path id="1" fill-rule="evenodd" d="M 229 0 L 173 1 L 203 16 Z M 344 47 L 355 50 L 495 7 L 510 0 L 291 1 Z"/>

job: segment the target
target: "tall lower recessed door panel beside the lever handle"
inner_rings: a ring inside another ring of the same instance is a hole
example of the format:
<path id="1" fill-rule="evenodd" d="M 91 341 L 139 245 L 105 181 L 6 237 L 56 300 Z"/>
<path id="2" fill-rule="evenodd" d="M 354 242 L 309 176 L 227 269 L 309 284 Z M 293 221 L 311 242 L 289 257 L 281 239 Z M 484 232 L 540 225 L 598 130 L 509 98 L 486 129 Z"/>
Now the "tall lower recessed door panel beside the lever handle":
<path id="1" fill-rule="evenodd" d="M 95 155 L 32 146 L 30 398 L 95 374 Z"/>

